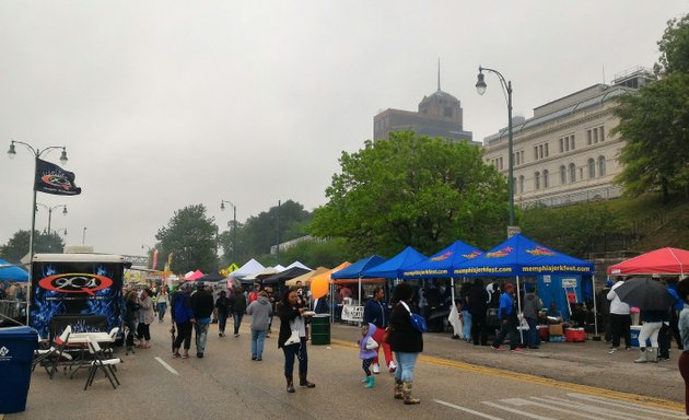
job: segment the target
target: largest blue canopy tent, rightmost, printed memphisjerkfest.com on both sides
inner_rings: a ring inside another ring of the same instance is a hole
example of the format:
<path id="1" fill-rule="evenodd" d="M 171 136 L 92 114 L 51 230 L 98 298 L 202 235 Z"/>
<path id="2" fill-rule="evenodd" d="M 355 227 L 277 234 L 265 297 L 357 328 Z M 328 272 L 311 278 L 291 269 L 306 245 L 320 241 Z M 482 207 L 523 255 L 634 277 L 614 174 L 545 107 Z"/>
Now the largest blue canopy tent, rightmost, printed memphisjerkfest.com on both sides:
<path id="1" fill-rule="evenodd" d="M 519 276 L 593 275 L 593 262 L 558 253 L 522 234 L 516 234 L 484 254 L 454 268 L 455 275 L 467 277 L 516 277 L 517 291 Z M 518 293 L 517 308 L 522 312 Z"/>

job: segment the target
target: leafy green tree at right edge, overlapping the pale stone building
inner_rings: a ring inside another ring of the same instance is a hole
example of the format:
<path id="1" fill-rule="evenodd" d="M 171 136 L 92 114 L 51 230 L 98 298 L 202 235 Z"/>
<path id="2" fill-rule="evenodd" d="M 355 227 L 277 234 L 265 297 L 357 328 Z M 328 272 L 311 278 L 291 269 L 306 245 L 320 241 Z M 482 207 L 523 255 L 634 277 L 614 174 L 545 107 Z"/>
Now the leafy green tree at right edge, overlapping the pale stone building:
<path id="1" fill-rule="evenodd" d="M 689 16 L 669 21 L 658 46 L 659 80 L 619 100 L 612 132 L 627 141 L 616 182 L 633 197 L 662 191 L 667 201 L 673 191 L 689 197 Z"/>

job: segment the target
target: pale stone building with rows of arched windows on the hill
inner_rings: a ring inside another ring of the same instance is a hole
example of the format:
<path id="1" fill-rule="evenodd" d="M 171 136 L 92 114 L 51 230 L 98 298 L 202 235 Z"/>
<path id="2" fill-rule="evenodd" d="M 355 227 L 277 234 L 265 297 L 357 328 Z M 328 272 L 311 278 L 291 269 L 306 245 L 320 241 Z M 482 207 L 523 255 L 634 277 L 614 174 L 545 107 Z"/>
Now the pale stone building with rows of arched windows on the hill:
<path id="1" fill-rule="evenodd" d="M 561 206 L 608 199 L 621 194 L 612 179 L 621 171 L 623 139 L 611 136 L 619 122 L 612 114 L 620 95 L 649 82 L 637 68 L 534 109 L 534 117 L 513 118 L 514 202 Z M 483 141 L 487 162 L 507 176 L 507 129 Z"/>

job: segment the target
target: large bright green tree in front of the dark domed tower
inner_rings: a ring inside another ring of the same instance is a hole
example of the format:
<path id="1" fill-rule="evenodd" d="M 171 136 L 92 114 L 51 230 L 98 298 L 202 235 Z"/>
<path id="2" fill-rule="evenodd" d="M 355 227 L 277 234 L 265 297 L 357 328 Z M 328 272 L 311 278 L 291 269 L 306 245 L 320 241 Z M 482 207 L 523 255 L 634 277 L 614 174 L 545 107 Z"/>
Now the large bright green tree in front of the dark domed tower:
<path id="1" fill-rule="evenodd" d="M 354 256 L 439 250 L 457 238 L 487 247 L 504 236 L 506 179 L 466 142 L 393 132 L 342 152 L 341 174 L 314 212 L 314 235 L 343 237 Z"/>

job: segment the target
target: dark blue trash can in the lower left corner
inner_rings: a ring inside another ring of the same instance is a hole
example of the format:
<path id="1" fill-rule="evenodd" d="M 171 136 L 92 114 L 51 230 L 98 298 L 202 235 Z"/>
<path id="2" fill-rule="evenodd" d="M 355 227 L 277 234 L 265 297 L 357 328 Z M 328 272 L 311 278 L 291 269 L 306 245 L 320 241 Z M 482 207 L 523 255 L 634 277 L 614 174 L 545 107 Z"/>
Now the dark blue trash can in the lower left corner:
<path id="1" fill-rule="evenodd" d="M 0 328 L 0 413 L 24 411 L 38 334 L 30 327 Z"/>

